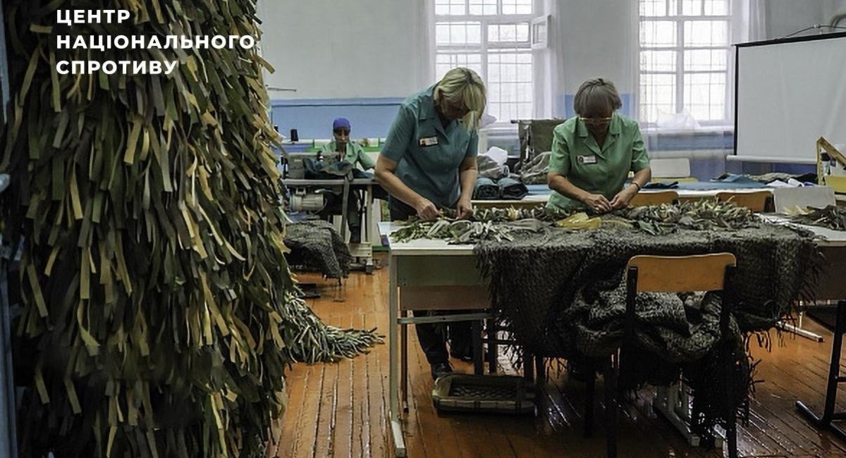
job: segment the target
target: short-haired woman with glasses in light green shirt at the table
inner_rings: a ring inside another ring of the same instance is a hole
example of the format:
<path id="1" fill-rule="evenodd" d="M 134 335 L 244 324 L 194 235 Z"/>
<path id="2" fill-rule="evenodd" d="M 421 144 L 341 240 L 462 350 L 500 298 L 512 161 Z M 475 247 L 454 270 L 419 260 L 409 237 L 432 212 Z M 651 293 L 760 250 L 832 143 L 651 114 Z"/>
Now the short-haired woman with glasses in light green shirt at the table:
<path id="1" fill-rule="evenodd" d="M 649 157 L 633 119 L 611 81 L 589 79 L 574 97 L 575 117 L 553 131 L 547 183 L 551 210 L 602 214 L 624 208 L 651 179 Z M 629 172 L 634 177 L 624 186 Z"/>

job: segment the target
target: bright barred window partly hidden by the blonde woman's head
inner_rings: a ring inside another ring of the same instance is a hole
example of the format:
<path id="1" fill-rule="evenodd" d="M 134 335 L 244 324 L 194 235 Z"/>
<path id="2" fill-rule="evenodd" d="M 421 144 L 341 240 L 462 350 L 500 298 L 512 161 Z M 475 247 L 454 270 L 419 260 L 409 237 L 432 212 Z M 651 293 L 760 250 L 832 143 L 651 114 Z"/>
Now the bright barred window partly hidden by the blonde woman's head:
<path id="1" fill-rule="evenodd" d="M 466 67 L 485 80 L 499 123 L 532 115 L 532 0 L 433 0 L 435 71 Z"/>

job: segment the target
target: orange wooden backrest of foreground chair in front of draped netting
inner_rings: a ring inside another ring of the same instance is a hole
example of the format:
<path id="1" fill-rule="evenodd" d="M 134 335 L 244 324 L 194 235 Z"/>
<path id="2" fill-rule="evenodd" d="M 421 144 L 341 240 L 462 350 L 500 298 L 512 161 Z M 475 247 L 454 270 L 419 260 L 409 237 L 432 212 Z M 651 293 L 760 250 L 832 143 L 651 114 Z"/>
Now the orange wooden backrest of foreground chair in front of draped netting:
<path id="1" fill-rule="evenodd" d="M 638 292 L 689 292 L 722 290 L 726 268 L 736 264 L 731 253 L 641 255 L 629 259 L 627 267 L 637 268 Z"/>

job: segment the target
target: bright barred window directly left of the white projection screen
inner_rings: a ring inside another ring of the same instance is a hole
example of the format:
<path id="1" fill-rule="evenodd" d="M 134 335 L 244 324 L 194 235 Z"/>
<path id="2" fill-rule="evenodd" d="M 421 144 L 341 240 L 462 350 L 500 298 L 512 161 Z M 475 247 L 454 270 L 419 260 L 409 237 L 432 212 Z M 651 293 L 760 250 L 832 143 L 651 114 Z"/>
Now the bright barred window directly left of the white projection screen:
<path id="1" fill-rule="evenodd" d="M 729 1 L 640 0 L 641 123 L 680 112 L 728 123 Z"/>

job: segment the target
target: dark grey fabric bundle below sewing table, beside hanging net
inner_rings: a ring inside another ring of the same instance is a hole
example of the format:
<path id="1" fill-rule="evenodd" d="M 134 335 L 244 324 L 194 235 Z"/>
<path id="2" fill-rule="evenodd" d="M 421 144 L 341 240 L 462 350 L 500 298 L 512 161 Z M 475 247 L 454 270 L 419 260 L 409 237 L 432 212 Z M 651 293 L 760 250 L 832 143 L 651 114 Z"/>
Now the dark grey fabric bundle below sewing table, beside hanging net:
<path id="1" fill-rule="evenodd" d="M 285 255 L 288 265 L 297 270 L 320 272 L 327 278 L 349 274 L 352 255 L 341 235 L 327 221 L 300 221 L 285 226 Z"/>

